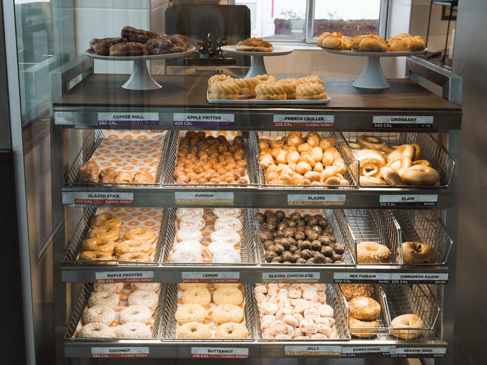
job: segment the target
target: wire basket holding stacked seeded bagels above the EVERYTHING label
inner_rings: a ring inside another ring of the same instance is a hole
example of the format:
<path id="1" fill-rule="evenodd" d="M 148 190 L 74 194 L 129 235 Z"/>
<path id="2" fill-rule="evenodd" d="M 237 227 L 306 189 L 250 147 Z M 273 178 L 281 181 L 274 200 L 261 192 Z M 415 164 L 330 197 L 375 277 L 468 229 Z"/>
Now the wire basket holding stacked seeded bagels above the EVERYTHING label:
<path id="1" fill-rule="evenodd" d="M 371 298 L 376 300 L 381 305 L 381 314 L 379 314 L 376 321 L 378 322 L 378 327 L 350 327 L 350 308 L 349 303 L 345 299 L 345 295 L 340 288 L 340 295 L 341 299 L 344 301 L 345 307 L 345 320 L 346 323 L 349 323 L 348 330 L 351 336 L 358 337 L 360 339 L 375 339 L 375 338 L 383 338 L 384 334 L 390 333 L 390 326 L 388 318 L 388 306 L 386 305 L 387 299 L 385 298 L 385 293 L 382 290 L 381 286 L 377 284 L 372 284 L 372 288 L 374 289 Z M 386 335 L 387 337 L 387 335 Z"/>

